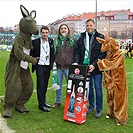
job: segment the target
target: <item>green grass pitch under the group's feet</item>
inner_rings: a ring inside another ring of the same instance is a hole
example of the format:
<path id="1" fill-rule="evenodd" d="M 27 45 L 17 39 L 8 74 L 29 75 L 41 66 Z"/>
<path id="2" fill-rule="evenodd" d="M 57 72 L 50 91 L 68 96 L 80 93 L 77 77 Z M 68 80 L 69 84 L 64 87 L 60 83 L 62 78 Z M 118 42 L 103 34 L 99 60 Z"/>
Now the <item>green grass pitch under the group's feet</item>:
<path id="1" fill-rule="evenodd" d="M 9 56 L 8 51 L 0 51 L 0 96 L 4 95 L 4 71 Z M 66 87 L 63 88 L 62 106 L 57 109 L 50 109 L 46 113 L 38 109 L 36 92 L 33 92 L 30 100 L 26 103 L 30 112 L 21 114 L 13 109 L 13 117 L 5 119 L 9 128 L 16 133 L 132 133 L 133 132 L 133 59 L 125 59 L 127 82 L 128 82 L 128 115 L 129 121 L 125 126 L 117 126 L 114 119 L 106 119 L 107 104 L 106 92 L 103 88 L 103 112 L 99 119 L 94 118 L 95 112 L 88 114 L 86 122 L 79 125 L 63 120 L 64 102 L 66 96 Z M 32 74 L 34 80 L 34 90 L 36 90 L 35 73 Z M 51 78 L 49 87 L 51 87 Z M 64 81 L 65 84 L 65 81 Z M 48 89 L 47 103 L 53 105 L 55 102 L 55 91 Z M 2 103 L 0 102 L 0 112 L 2 112 Z M 1 128 L 1 125 L 0 125 Z"/>

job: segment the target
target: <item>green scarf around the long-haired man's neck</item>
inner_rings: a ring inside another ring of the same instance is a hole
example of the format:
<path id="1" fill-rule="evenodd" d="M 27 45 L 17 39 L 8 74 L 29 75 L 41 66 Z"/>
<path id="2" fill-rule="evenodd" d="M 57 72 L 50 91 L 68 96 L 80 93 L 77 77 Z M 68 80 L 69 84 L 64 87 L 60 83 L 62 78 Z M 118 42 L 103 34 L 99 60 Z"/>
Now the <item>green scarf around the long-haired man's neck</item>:
<path id="1" fill-rule="evenodd" d="M 74 39 L 70 36 L 62 36 L 62 35 L 59 35 L 58 37 L 56 37 L 55 39 L 55 43 L 54 43 L 54 53 L 56 53 L 56 47 L 57 45 L 61 44 L 61 47 L 64 46 L 65 44 L 65 41 L 67 40 L 67 38 L 69 38 L 69 46 L 72 47 L 74 45 Z M 60 43 L 59 43 L 60 42 Z"/>

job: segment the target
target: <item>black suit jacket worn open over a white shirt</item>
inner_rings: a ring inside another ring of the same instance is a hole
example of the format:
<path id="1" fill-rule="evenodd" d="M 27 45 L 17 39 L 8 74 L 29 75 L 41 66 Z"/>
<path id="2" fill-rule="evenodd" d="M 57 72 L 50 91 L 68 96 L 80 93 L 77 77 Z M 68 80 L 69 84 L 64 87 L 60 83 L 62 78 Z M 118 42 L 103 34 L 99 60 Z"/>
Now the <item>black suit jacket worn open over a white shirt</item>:
<path id="1" fill-rule="evenodd" d="M 54 44 L 53 44 L 53 39 L 48 38 L 48 42 L 49 42 L 49 47 L 50 47 L 50 69 L 53 69 L 53 62 L 54 62 Z M 41 51 L 41 39 L 37 38 L 35 40 L 32 40 L 32 44 L 33 44 L 33 49 L 30 52 L 30 55 L 32 57 L 40 57 L 40 51 Z M 34 70 L 36 69 L 36 65 L 32 65 L 32 72 L 34 72 Z"/>

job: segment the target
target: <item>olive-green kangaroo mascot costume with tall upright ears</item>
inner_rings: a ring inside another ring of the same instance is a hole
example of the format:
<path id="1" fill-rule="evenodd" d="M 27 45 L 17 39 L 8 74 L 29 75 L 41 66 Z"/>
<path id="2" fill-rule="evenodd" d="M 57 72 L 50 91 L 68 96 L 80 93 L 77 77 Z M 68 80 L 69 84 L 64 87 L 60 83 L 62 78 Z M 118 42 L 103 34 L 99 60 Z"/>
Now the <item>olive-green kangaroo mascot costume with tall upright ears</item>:
<path id="1" fill-rule="evenodd" d="M 28 64 L 35 65 L 38 61 L 29 55 L 32 49 L 32 34 L 38 34 L 38 27 L 34 18 L 36 11 L 28 10 L 20 5 L 23 18 L 19 22 L 20 32 L 16 36 L 11 50 L 5 72 L 5 97 L 3 101 L 3 117 L 12 116 L 12 108 L 21 113 L 29 112 L 24 104 L 29 100 L 33 92 L 33 81 Z"/>

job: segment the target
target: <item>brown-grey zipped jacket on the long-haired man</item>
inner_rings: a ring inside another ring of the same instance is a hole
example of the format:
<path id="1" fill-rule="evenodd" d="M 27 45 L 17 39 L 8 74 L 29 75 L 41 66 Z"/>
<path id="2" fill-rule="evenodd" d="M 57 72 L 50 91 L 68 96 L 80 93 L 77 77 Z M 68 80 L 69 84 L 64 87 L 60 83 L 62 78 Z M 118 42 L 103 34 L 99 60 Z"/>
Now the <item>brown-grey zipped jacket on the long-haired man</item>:
<path id="1" fill-rule="evenodd" d="M 59 41 L 55 53 L 55 62 L 58 69 L 66 70 L 69 69 L 70 65 L 72 65 L 74 56 L 74 45 L 69 45 L 69 38 L 67 38 L 64 42 L 64 46 L 61 46 Z"/>

